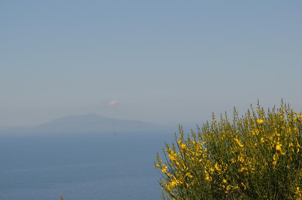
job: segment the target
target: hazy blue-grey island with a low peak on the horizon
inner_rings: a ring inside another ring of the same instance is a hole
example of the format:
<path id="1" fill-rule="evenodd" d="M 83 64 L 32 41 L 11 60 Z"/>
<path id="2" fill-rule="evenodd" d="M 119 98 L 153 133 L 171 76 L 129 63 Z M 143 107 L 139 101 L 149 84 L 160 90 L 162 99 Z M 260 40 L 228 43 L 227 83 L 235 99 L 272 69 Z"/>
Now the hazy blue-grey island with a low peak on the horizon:
<path id="1" fill-rule="evenodd" d="M 41 124 L 37 127 L 25 128 L 26 132 L 49 132 L 49 133 L 67 133 L 67 132 L 137 132 L 152 131 L 155 125 L 137 121 L 123 120 L 115 118 L 106 118 L 97 114 L 87 115 L 69 115 L 58 118 L 53 121 Z M 1 132 L 22 131 L 22 128 L 11 127 L 0 129 Z"/>

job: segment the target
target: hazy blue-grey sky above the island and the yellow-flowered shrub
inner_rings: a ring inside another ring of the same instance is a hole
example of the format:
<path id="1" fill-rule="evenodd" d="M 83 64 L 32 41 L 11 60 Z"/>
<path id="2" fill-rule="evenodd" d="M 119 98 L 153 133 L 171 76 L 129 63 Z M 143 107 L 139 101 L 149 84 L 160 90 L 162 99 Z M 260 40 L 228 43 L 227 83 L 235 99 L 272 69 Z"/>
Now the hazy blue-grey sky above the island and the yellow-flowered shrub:
<path id="1" fill-rule="evenodd" d="M 1 1 L 0 126 L 300 110 L 301 19 L 301 1 Z"/>

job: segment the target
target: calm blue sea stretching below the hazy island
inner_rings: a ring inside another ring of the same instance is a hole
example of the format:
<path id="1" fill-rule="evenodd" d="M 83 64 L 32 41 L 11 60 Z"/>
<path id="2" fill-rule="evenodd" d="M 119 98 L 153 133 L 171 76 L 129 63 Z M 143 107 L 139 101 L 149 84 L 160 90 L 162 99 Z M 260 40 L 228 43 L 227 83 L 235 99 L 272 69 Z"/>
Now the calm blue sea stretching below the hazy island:
<path id="1" fill-rule="evenodd" d="M 0 135 L 0 199 L 160 199 L 153 161 L 173 135 Z"/>

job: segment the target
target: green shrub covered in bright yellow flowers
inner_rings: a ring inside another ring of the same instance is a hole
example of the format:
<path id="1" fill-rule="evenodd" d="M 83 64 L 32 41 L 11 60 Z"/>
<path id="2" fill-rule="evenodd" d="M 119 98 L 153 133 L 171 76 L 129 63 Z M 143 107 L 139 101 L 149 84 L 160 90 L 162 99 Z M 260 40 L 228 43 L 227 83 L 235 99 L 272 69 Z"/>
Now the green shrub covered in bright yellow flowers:
<path id="1" fill-rule="evenodd" d="M 163 199 L 302 199 L 302 114 L 281 101 L 265 113 L 257 104 L 241 118 L 234 107 L 156 155 Z"/>

